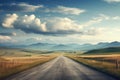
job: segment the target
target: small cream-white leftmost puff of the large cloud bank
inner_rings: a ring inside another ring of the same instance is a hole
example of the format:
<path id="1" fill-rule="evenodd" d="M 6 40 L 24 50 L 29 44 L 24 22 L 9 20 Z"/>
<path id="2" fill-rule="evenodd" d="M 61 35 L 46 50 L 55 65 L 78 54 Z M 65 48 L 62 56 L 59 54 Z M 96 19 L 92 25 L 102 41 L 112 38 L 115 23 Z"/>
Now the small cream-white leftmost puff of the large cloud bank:
<path id="1" fill-rule="evenodd" d="M 17 14 L 7 14 L 6 18 L 4 19 L 2 26 L 4 26 L 5 28 L 12 28 L 13 23 L 17 20 L 18 15 Z"/>

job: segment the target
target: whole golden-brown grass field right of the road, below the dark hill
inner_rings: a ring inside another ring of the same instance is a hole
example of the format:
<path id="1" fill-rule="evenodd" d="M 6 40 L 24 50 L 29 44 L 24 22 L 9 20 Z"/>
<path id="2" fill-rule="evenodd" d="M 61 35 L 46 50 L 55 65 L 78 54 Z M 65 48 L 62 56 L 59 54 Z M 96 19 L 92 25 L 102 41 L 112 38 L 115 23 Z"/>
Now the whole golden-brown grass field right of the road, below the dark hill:
<path id="1" fill-rule="evenodd" d="M 120 54 L 110 55 L 67 55 L 67 57 L 91 68 L 120 79 Z"/>

